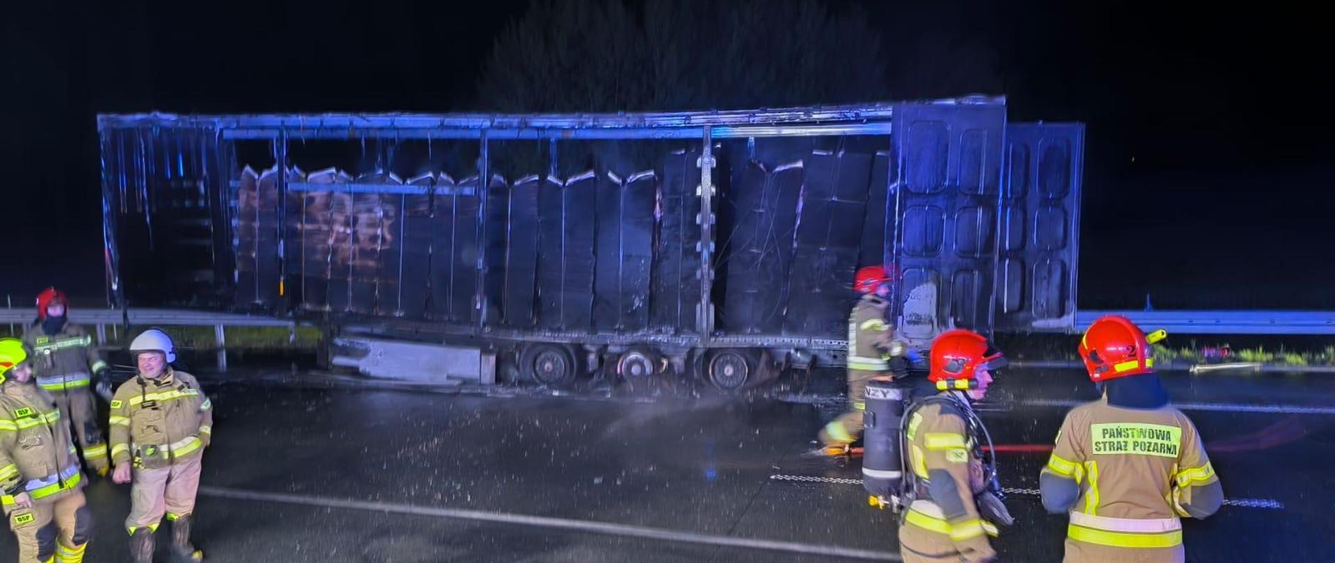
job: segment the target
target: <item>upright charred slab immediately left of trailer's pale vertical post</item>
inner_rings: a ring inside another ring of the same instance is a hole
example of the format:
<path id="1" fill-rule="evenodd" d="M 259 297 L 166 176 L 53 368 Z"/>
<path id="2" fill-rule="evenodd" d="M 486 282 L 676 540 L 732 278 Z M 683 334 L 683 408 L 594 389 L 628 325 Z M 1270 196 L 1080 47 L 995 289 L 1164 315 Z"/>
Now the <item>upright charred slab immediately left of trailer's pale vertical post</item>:
<path id="1" fill-rule="evenodd" d="M 698 152 L 678 151 L 662 165 L 658 240 L 654 244 L 651 327 L 663 332 L 693 332 L 700 303 L 700 168 Z"/>

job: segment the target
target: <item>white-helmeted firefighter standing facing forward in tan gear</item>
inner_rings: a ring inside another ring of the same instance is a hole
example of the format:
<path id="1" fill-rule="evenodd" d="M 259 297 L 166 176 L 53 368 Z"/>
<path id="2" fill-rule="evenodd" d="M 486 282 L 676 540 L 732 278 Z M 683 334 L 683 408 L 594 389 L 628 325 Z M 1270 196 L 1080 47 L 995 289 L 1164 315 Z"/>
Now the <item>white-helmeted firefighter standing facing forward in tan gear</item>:
<path id="1" fill-rule="evenodd" d="M 212 435 L 212 403 L 190 374 L 175 371 L 175 346 L 151 328 L 129 343 L 139 374 L 111 400 L 112 480 L 131 487 L 129 551 L 135 563 L 154 559 L 154 534 L 163 516 L 172 523 L 172 556 L 203 560 L 190 543 L 199 491 L 200 458 Z"/>

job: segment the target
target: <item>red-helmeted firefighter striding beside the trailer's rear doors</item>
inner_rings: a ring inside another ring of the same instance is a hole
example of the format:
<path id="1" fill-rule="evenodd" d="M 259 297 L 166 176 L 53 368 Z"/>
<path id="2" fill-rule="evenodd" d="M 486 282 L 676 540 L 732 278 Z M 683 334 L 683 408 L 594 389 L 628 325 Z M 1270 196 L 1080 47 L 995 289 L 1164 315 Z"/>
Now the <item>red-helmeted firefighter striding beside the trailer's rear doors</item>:
<path id="1" fill-rule="evenodd" d="M 894 339 L 886 322 L 893 290 L 890 272 L 880 265 L 857 271 L 853 290 L 861 294 L 848 320 L 848 400 L 850 408 L 821 430 L 818 439 L 826 452 L 838 454 L 862 434 L 862 394 L 874 378 L 896 378 L 908 372 L 902 355 L 906 346 Z M 893 367 L 892 367 L 893 364 Z"/>

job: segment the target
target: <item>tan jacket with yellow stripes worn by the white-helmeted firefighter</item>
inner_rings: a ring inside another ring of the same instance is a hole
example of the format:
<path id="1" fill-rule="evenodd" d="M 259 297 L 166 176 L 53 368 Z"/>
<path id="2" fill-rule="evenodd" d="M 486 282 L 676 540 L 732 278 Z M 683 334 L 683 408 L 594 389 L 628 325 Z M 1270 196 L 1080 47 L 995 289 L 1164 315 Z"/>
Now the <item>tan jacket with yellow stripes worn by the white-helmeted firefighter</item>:
<path id="1" fill-rule="evenodd" d="M 203 454 L 214 431 L 214 404 L 195 376 L 171 368 L 136 376 L 111 400 L 111 459 L 156 470 Z"/>

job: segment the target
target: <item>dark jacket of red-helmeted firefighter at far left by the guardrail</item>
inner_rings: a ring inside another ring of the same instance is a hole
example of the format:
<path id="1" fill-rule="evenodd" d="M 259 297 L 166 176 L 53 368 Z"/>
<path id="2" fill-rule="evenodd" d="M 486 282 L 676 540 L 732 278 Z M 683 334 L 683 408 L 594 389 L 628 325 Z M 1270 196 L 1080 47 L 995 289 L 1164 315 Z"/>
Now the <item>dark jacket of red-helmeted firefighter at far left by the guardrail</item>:
<path id="1" fill-rule="evenodd" d="M 29 324 L 23 332 L 23 342 L 33 351 L 37 386 L 51 392 L 87 388 L 92 376 L 107 368 L 107 363 L 97 356 L 92 336 L 77 324 L 65 323 L 53 335 L 48 335 L 40 322 Z"/>

